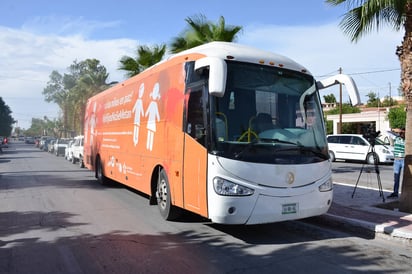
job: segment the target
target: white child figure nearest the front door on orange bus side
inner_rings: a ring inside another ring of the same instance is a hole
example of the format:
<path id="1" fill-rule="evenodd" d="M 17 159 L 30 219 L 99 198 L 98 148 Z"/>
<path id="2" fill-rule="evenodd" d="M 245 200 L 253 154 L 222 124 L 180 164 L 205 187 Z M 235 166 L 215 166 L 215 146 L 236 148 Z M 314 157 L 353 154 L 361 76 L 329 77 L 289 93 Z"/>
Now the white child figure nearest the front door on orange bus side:
<path id="1" fill-rule="evenodd" d="M 153 149 L 154 134 L 156 132 L 156 122 L 160 121 L 159 109 L 157 107 L 157 100 L 160 99 L 159 83 L 156 83 L 153 87 L 152 93 L 150 93 L 152 101 L 146 110 L 145 117 L 147 119 L 147 142 L 146 148 L 150 151 Z"/>

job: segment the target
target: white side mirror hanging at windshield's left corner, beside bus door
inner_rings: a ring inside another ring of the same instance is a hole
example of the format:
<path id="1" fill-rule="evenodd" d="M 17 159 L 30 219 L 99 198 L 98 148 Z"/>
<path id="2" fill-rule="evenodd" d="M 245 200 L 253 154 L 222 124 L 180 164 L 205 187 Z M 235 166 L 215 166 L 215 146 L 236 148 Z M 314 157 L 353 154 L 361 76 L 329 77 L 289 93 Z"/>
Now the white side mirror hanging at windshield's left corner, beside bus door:
<path id="1" fill-rule="evenodd" d="M 195 71 L 209 68 L 209 94 L 223 97 L 226 89 L 226 62 L 217 57 L 203 57 L 195 62 Z"/>

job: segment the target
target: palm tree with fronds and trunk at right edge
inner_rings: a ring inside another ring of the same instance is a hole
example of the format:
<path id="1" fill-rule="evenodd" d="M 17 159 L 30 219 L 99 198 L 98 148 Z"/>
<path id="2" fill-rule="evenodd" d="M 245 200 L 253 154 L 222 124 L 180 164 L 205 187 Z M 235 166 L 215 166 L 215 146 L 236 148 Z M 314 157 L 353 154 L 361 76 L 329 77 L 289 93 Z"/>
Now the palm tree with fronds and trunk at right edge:
<path id="1" fill-rule="evenodd" d="M 332 5 L 345 4 L 349 11 L 340 26 L 353 42 L 381 23 L 399 31 L 404 28 L 402 45 L 396 54 L 401 65 L 402 92 L 406 99 L 405 169 L 399 209 L 412 212 L 412 1 L 411 0 L 326 0 Z"/>

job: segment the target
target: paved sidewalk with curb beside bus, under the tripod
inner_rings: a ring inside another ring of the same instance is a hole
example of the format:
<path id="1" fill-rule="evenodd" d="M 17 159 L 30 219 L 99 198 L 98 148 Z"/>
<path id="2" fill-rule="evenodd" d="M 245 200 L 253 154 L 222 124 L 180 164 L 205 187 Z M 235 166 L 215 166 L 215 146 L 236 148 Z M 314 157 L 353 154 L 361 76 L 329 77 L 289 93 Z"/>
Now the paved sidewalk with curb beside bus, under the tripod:
<path id="1" fill-rule="evenodd" d="M 397 199 L 387 199 L 389 192 L 384 191 L 385 202 L 378 189 L 358 186 L 354 196 L 354 186 L 334 184 L 334 200 L 328 213 L 322 216 L 325 222 L 341 223 L 366 232 L 382 234 L 412 243 L 412 214 L 399 212 L 390 205 Z"/>

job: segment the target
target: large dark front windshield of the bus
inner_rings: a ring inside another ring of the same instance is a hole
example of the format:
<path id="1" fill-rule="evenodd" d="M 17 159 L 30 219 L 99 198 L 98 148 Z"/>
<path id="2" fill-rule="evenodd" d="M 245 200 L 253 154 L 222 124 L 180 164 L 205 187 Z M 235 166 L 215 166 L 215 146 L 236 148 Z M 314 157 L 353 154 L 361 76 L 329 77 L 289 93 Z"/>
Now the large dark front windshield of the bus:
<path id="1" fill-rule="evenodd" d="M 223 97 L 210 98 L 210 152 L 248 162 L 305 164 L 328 159 L 312 76 L 227 62 Z"/>

